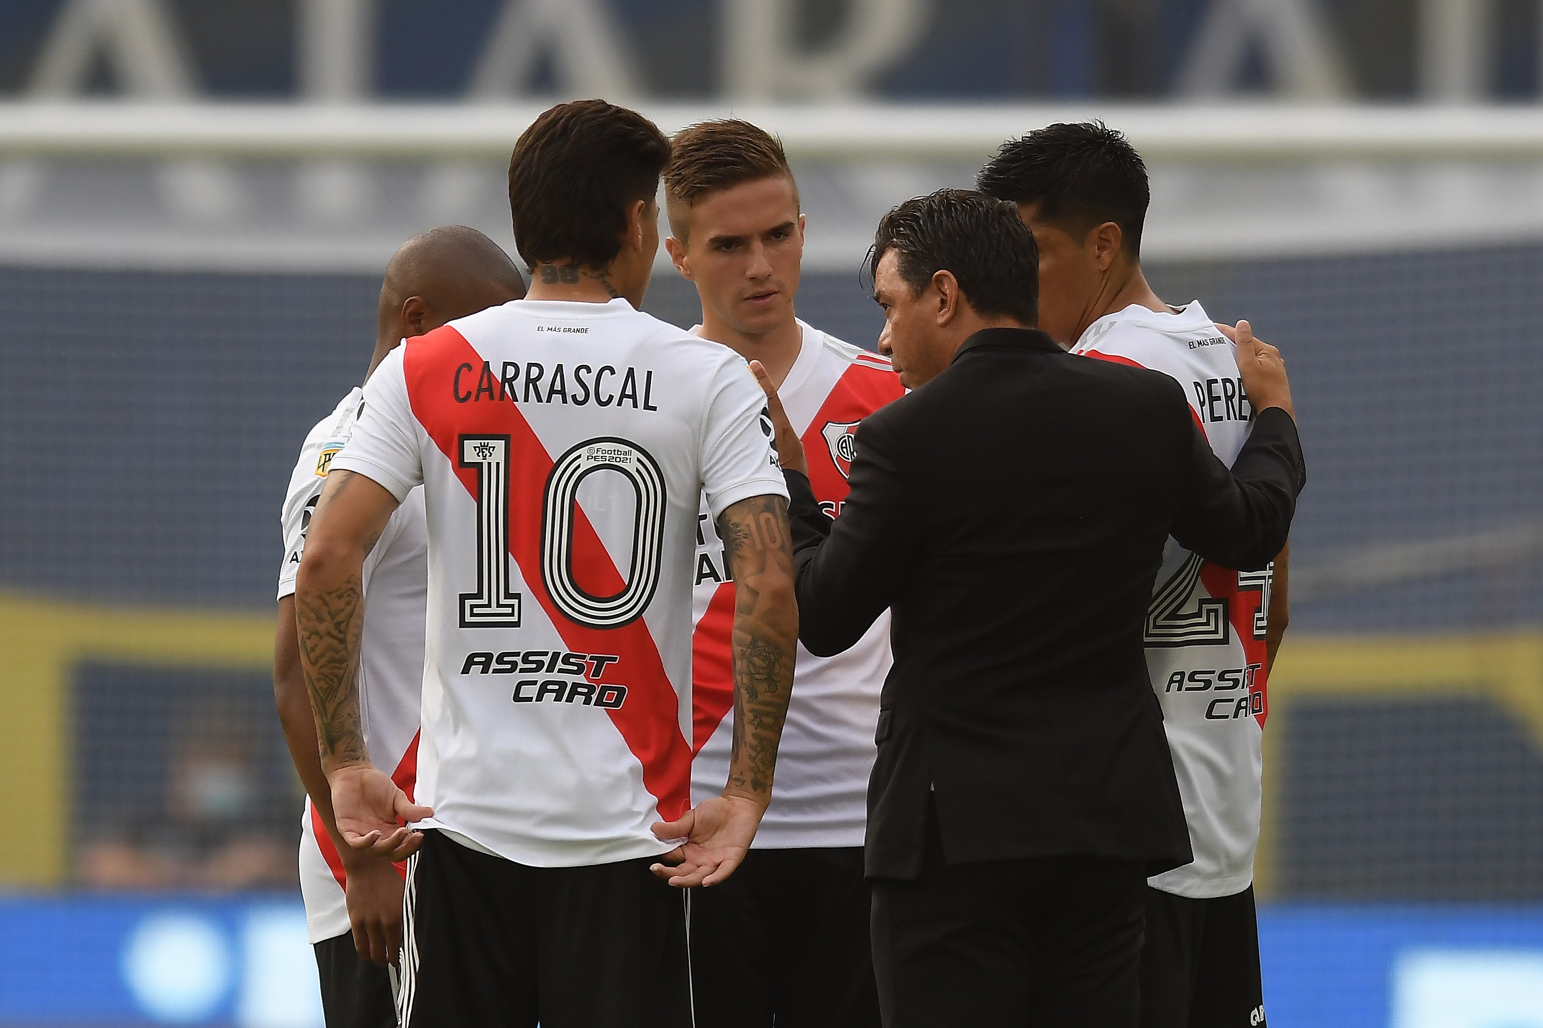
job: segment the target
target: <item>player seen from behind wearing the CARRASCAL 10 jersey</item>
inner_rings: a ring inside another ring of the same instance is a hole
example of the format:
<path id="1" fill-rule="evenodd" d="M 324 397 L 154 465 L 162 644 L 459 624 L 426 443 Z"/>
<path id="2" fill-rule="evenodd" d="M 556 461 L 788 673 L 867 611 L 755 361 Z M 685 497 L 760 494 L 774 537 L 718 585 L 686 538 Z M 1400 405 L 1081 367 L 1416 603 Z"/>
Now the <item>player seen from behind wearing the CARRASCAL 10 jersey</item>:
<path id="1" fill-rule="evenodd" d="M 793 680 L 787 492 L 733 351 L 637 310 L 670 143 L 562 103 L 509 163 L 528 299 L 390 353 L 312 519 L 296 623 L 344 838 L 407 868 L 398 1010 L 426 1025 L 688 1025 L 685 895 L 744 858 Z M 429 526 L 417 800 L 364 749 L 370 541 Z M 734 755 L 690 800 L 702 493 L 728 541 Z"/>

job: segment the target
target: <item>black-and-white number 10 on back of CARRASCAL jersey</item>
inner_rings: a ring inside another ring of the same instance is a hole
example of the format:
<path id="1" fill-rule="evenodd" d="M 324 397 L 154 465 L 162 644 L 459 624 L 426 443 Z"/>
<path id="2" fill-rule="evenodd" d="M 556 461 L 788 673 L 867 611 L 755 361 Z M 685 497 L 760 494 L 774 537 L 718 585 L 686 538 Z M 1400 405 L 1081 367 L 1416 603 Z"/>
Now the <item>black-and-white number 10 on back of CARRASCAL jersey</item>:
<path id="1" fill-rule="evenodd" d="M 509 436 L 461 436 L 460 465 L 477 469 L 477 589 L 461 593 L 461 627 L 520 627 L 520 593 L 509 587 Z M 596 596 L 574 575 L 579 485 L 596 472 L 620 473 L 636 515 L 630 575 L 620 592 Z M 616 629 L 642 616 L 659 587 L 665 529 L 665 479 L 640 447 L 616 438 L 586 439 L 552 465 L 542 498 L 542 583 L 572 621 Z"/>

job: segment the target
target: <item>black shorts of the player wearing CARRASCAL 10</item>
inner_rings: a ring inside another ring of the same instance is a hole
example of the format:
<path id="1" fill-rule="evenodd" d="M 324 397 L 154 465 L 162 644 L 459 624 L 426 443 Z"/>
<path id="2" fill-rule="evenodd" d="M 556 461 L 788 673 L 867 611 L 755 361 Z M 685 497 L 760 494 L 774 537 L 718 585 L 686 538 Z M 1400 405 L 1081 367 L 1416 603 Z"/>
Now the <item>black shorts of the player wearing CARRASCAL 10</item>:
<path id="1" fill-rule="evenodd" d="M 424 835 L 407 863 L 404 1028 L 690 1028 L 685 897 L 656 860 L 529 868 Z"/>

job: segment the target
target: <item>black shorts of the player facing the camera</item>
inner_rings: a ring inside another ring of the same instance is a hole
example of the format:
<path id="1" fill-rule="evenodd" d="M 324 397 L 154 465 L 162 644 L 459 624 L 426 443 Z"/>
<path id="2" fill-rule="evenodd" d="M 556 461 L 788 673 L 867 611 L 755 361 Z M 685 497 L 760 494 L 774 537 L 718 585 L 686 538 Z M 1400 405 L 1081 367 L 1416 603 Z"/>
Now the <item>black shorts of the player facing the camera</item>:
<path id="1" fill-rule="evenodd" d="M 697 1028 L 878 1028 L 861 846 L 751 849 L 690 915 Z"/>

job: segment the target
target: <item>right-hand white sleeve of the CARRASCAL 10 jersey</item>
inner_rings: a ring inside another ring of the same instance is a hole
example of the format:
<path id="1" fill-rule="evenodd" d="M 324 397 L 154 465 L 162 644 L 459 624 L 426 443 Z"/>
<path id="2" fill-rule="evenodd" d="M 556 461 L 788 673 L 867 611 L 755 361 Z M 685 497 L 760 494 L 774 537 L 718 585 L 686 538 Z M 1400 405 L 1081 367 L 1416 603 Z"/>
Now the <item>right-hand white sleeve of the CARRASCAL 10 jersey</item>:
<path id="1" fill-rule="evenodd" d="M 713 376 L 702 421 L 697 462 L 713 521 L 750 496 L 787 498 L 787 482 L 772 444 L 767 398 L 738 358 Z"/>

